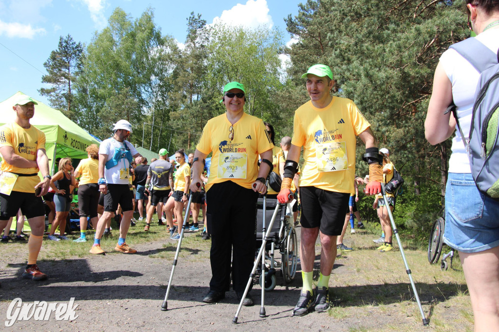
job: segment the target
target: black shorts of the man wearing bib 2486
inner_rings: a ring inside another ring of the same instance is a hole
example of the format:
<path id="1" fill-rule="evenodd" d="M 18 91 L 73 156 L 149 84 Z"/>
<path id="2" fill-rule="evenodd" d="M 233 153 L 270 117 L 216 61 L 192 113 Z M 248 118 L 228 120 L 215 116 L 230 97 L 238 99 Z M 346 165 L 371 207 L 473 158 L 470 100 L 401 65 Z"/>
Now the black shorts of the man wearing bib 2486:
<path id="1" fill-rule="evenodd" d="M 349 193 L 328 191 L 313 186 L 300 187 L 301 227 L 315 228 L 329 236 L 341 235 L 348 209 Z"/>

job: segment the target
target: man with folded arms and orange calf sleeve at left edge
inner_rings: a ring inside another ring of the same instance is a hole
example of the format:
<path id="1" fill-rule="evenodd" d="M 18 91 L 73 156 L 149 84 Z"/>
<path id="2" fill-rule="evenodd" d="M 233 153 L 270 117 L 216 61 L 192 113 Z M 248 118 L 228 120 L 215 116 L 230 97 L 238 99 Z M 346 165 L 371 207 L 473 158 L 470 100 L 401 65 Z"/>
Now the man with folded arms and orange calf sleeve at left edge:
<path id="1" fill-rule="evenodd" d="M 31 235 L 28 241 L 28 261 L 22 278 L 45 280 L 36 259 L 41 249 L 45 229 L 45 208 L 42 195 L 49 188 L 48 158 L 45 153 L 45 134 L 29 124 L 34 116 L 32 98 L 21 95 L 12 109 L 16 113 L 12 123 L 0 127 L 0 154 L 3 159 L 0 175 L 0 229 L 19 208 L 28 219 Z M 43 176 L 40 182 L 38 172 Z"/>

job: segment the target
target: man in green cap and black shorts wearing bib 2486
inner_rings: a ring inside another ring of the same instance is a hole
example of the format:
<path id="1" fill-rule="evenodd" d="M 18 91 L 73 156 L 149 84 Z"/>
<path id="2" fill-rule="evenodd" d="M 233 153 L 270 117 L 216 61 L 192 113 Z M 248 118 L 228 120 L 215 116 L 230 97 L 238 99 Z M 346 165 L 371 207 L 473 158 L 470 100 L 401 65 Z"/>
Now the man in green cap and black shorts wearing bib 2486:
<path id="1" fill-rule="evenodd" d="M 329 309 L 329 277 L 336 258 L 336 237 L 341 234 L 348 209 L 351 179 L 355 176 L 356 136 L 366 145 L 370 180 L 368 194 L 381 190 L 382 169 L 376 140 L 369 123 L 355 104 L 331 95 L 334 86 L 331 68 L 323 64 L 311 66 L 301 76 L 306 78 L 310 101 L 294 114 L 293 138 L 284 166 L 284 179 L 277 195 L 279 202 L 288 201 L 291 181 L 297 170 L 300 149 L 304 163 L 299 186 L 301 199 L 301 275 L 303 288 L 293 315 L 306 315 Z M 315 241 L 320 232 L 322 247 L 320 275 L 316 290 L 312 289 Z"/>

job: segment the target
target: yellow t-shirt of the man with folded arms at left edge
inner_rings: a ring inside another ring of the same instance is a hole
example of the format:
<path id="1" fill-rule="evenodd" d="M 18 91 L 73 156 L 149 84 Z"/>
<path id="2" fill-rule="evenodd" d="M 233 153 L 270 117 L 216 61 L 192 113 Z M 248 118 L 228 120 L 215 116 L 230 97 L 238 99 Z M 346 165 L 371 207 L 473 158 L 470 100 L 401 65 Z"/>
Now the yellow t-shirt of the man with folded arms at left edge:
<path id="1" fill-rule="evenodd" d="M 29 129 L 24 129 L 12 122 L 0 127 L 0 147 L 12 147 L 16 155 L 35 161 L 37 151 L 45 149 L 45 134 L 32 125 Z M 20 168 L 9 165 L 5 160 L 1 163 L 0 169 L 2 172 L 20 174 L 34 174 L 39 171 L 38 167 Z M 12 191 L 34 193 L 34 186 L 38 182 L 40 182 L 39 176 L 19 176 Z"/>

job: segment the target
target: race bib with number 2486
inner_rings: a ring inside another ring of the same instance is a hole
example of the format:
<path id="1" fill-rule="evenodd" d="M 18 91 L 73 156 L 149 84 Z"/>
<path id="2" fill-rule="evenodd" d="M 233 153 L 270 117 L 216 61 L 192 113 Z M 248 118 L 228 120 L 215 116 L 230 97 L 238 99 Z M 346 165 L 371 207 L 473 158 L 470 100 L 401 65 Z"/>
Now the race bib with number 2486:
<path id="1" fill-rule="evenodd" d="M 348 169 L 345 142 L 317 144 L 315 147 L 317 170 L 331 172 Z"/>

